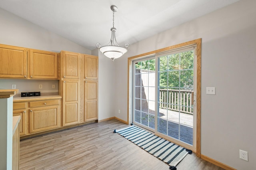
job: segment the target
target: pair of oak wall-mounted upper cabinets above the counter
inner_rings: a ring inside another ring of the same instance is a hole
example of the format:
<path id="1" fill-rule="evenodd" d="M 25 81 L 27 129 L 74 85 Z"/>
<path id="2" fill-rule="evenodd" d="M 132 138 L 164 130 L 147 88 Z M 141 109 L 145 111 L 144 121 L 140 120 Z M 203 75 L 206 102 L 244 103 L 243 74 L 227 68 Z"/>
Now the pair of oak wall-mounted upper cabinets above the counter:
<path id="1" fill-rule="evenodd" d="M 58 56 L 55 52 L 0 44 L 0 78 L 58 79 Z"/>

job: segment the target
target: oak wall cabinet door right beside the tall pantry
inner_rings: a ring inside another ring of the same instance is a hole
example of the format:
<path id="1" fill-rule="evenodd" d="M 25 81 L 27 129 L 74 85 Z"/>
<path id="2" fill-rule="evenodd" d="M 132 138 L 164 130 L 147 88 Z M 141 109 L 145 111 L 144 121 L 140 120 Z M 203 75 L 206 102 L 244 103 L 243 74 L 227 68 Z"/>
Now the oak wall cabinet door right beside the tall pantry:
<path id="1" fill-rule="evenodd" d="M 58 79 L 58 53 L 30 50 L 30 79 Z"/>

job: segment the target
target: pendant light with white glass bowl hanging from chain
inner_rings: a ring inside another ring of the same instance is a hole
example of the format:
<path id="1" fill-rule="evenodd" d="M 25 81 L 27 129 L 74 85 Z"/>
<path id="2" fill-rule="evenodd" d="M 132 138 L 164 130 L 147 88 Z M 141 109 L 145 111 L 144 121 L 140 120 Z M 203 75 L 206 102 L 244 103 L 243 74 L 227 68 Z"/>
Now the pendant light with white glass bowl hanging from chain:
<path id="1" fill-rule="evenodd" d="M 114 27 L 114 13 L 118 11 L 118 8 L 114 5 L 110 6 L 110 9 L 113 11 L 113 27 L 111 30 L 111 38 L 108 45 L 100 47 L 100 43 L 96 43 L 96 47 L 108 58 L 111 58 L 113 61 L 116 58 L 121 57 L 124 53 L 127 52 L 127 49 L 130 47 L 128 43 L 124 47 L 120 47 L 116 42 L 116 28 Z"/>

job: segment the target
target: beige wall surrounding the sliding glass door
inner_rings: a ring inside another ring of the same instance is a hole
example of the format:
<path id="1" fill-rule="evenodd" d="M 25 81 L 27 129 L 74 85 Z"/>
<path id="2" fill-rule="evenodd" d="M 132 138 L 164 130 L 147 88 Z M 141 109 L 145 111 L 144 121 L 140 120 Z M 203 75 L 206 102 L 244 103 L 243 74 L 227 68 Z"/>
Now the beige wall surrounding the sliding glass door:
<path id="1" fill-rule="evenodd" d="M 201 153 L 238 170 L 256 169 L 255 8 L 255 0 L 241 0 L 132 44 L 114 61 L 115 116 L 127 119 L 128 57 L 202 38 Z M 206 87 L 216 87 L 216 95 L 206 95 Z M 249 162 L 239 149 L 248 151 Z"/>

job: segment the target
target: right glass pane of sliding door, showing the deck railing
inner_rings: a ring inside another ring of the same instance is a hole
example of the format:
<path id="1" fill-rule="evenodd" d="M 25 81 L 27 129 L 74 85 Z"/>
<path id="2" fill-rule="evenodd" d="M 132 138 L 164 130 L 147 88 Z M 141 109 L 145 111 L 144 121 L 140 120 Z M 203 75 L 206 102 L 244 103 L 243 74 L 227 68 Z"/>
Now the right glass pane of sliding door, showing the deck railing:
<path id="1" fill-rule="evenodd" d="M 158 132 L 193 144 L 194 50 L 158 60 Z"/>

